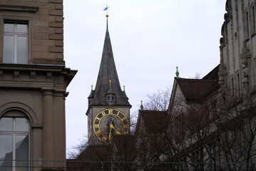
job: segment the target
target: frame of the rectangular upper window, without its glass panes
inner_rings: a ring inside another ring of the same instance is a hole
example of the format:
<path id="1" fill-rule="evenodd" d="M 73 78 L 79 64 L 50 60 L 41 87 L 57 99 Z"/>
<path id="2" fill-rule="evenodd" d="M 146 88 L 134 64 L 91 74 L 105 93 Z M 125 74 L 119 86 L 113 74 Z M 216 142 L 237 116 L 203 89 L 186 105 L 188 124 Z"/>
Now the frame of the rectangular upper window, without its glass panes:
<path id="1" fill-rule="evenodd" d="M 9 31 L 4 31 L 4 26 L 5 24 L 14 24 L 14 31 L 13 32 L 9 32 Z M 22 25 L 26 25 L 26 33 L 19 33 L 17 31 L 17 26 L 18 24 L 22 24 Z M 6 62 L 5 61 L 5 57 L 4 57 L 4 47 L 5 47 L 5 42 L 4 42 L 4 38 L 5 36 L 13 36 L 14 37 L 14 56 L 11 56 L 11 63 L 21 63 L 21 64 L 28 64 L 29 63 L 29 21 L 9 21 L 9 20 L 4 20 L 4 24 L 3 24 L 3 63 L 10 63 L 10 62 Z M 18 37 L 24 37 L 26 38 L 26 59 L 24 60 L 24 62 L 18 62 L 18 56 L 17 56 L 17 50 L 18 50 L 18 46 L 17 46 L 17 38 Z M 8 57 L 7 57 L 8 58 Z"/>

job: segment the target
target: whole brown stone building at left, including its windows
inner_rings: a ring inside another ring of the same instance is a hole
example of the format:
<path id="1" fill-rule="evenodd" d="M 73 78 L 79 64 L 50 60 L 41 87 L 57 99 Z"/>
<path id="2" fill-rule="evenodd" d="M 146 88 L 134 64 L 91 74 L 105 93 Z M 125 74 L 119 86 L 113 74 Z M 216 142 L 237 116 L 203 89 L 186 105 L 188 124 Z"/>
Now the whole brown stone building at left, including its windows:
<path id="1" fill-rule="evenodd" d="M 65 170 L 63 1 L 0 1 L 0 51 L 0 170 Z"/>

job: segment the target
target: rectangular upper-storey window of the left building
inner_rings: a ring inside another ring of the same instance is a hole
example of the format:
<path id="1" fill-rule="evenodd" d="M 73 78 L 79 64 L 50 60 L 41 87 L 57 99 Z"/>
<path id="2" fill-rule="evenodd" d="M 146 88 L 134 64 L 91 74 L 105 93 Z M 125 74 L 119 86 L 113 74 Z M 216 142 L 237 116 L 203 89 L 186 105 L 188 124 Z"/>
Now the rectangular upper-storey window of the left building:
<path id="1" fill-rule="evenodd" d="M 28 63 L 28 24 L 4 23 L 4 63 Z"/>

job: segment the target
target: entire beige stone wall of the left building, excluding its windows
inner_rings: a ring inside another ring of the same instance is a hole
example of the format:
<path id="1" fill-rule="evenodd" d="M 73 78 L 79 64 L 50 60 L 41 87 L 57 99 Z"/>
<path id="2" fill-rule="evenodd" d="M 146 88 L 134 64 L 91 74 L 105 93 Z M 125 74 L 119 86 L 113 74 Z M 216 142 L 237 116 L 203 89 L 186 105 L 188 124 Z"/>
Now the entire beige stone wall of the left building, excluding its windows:
<path id="1" fill-rule="evenodd" d="M 28 63 L 3 63 L 5 21 L 28 23 Z M 63 1 L 1 0 L 0 52 L 0 118 L 29 118 L 30 170 L 66 170 L 66 88 L 77 71 L 63 61 Z"/>

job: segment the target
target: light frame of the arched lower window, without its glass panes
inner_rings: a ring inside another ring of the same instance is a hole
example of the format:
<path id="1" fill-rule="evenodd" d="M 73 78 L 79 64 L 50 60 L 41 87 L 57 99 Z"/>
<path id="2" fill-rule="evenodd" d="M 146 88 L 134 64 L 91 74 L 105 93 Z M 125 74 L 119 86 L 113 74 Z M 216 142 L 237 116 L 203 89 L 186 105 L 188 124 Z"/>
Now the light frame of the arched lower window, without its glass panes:
<path id="1" fill-rule="evenodd" d="M 24 135 L 24 136 L 28 136 L 29 137 L 29 140 L 28 140 L 28 168 L 25 169 L 26 171 L 29 171 L 30 170 L 30 152 L 31 152 L 31 123 L 29 121 L 29 118 L 26 118 L 26 117 L 16 117 L 16 116 L 13 116 L 13 117 L 10 117 L 10 116 L 2 116 L 0 118 L 0 123 L 1 123 L 1 119 L 2 118 L 12 118 L 12 128 L 11 130 L 0 130 L 0 135 L 11 135 L 11 147 L 12 147 L 12 162 L 11 162 L 11 167 L 12 167 L 12 171 L 15 171 L 16 170 L 16 136 L 17 135 Z M 26 118 L 27 122 L 28 122 L 28 128 L 29 130 L 16 130 L 16 118 Z M 19 162 L 19 161 L 18 161 Z"/>

